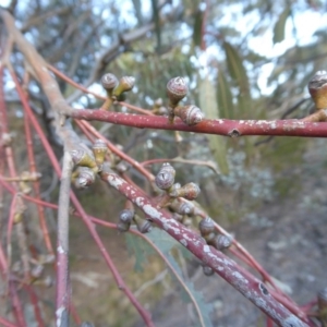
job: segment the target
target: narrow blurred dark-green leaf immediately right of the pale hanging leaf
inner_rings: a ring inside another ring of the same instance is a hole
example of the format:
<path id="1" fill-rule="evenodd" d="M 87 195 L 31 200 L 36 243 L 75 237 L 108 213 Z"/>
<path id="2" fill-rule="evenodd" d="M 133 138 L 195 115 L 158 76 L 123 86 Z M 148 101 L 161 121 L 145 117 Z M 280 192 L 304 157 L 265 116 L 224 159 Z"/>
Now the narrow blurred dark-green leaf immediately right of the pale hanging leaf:
<path id="1" fill-rule="evenodd" d="M 218 108 L 221 118 L 237 119 L 234 114 L 233 96 L 231 85 L 228 84 L 225 74 L 221 70 L 218 73 Z"/>

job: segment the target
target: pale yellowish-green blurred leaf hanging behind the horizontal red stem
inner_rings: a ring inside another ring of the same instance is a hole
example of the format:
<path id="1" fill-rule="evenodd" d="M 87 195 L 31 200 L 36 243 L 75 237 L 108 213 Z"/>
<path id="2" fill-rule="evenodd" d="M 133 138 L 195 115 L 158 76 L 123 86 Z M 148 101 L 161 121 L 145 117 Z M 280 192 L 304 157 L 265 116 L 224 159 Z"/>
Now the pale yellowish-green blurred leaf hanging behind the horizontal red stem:
<path id="1" fill-rule="evenodd" d="M 204 80 L 198 78 L 199 90 L 199 108 L 204 111 L 207 119 L 219 118 L 216 89 L 208 76 Z M 227 174 L 229 171 L 227 161 L 226 140 L 218 135 L 207 135 L 209 148 L 216 162 L 218 164 L 221 173 Z"/>

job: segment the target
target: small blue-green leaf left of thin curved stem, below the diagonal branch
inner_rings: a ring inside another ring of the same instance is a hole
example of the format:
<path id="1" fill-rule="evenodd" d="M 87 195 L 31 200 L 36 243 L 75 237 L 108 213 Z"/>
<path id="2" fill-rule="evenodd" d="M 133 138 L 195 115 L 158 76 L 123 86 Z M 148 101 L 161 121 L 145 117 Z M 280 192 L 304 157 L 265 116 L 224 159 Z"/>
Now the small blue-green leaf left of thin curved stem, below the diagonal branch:
<path id="1" fill-rule="evenodd" d="M 154 254 L 154 249 L 141 238 L 131 233 L 124 233 L 126 246 L 130 255 L 135 256 L 134 270 L 136 272 L 143 271 L 143 265 L 147 263 L 147 256 Z"/>

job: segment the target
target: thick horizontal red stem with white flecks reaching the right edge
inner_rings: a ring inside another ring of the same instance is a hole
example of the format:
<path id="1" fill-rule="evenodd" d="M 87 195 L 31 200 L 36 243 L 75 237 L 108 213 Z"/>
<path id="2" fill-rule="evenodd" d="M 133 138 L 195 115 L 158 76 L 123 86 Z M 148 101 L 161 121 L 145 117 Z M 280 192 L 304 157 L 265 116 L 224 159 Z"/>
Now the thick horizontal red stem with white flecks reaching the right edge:
<path id="1" fill-rule="evenodd" d="M 75 119 L 106 121 L 138 129 L 184 131 L 230 137 L 245 135 L 327 137 L 326 122 L 316 123 L 296 119 L 274 121 L 205 119 L 194 126 L 189 126 L 178 118 L 170 123 L 167 117 L 160 116 L 149 117 L 90 109 L 72 109 L 65 113 Z"/>

